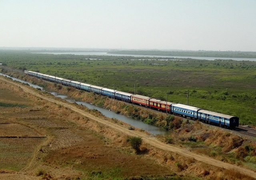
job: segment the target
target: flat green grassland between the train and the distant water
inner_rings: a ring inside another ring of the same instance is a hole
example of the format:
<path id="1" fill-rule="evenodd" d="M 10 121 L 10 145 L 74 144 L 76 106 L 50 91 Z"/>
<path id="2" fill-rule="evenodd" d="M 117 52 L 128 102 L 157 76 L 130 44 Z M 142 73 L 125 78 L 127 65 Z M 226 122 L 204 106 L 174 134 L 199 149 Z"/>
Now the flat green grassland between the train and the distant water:
<path id="1" fill-rule="evenodd" d="M 93 59 L 88 59 L 93 58 Z M 134 57 L 31 54 L 0 51 L 0 62 L 20 70 L 70 78 L 238 116 L 256 125 L 256 62 L 137 60 Z"/>

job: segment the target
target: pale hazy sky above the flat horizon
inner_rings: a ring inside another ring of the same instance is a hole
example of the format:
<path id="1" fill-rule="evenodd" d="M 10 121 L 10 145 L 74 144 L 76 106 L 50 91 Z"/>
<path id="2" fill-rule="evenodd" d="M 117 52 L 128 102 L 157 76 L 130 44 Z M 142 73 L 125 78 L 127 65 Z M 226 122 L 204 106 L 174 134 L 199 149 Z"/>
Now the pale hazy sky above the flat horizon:
<path id="1" fill-rule="evenodd" d="M 0 46 L 256 51 L 256 0 L 0 0 Z"/>

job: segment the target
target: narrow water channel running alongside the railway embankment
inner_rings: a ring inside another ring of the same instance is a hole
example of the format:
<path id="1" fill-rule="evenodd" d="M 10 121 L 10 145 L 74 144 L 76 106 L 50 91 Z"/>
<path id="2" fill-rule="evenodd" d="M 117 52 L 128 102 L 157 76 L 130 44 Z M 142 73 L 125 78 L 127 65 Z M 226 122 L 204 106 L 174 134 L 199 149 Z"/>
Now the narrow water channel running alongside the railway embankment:
<path id="1" fill-rule="evenodd" d="M 2 74 L 0 73 L 0 75 L 2 76 L 6 76 L 8 78 L 12 78 L 6 74 Z M 24 80 L 20 80 L 20 79 L 17 79 L 17 78 L 12 78 L 12 80 L 14 81 L 18 81 L 18 82 L 22 82 L 24 84 L 28 84 L 29 86 L 33 87 L 33 88 L 38 88 L 42 91 L 45 91 L 44 88 L 40 87 L 40 86 L 37 86 L 35 84 L 32 84 L 30 82 L 26 82 Z M 81 101 L 76 101 L 76 100 L 72 100 L 71 98 L 69 98 L 68 96 L 66 95 L 63 95 L 63 94 L 60 94 L 58 92 L 50 92 L 50 90 L 48 90 L 47 92 L 51 93 L 52 95 L 54 95 L 55 97 L 58 97 L 58 98 L 62 98 L 68 102 L 71 102 L 71 103 L 76 103 L 76 104 L 80 104 L 82 106 L 85 106 L 89 109 L 96 109 L 98 110 L 99 112 L 101 112 L 104 116 L 108 117 L 108 118 L 116 118 L 122 122 L 125 122 L 127 124 L 130 124 L 132 126 L 134 126 L 135 128 L 140 128 L 140 129 L 143 129 L 147 132 L 149 132 L 150 134 L 153 134 L 153 135 L 168 135 L 170 134 L 170 131 L 166 131 L 166 130 L 163 130 L 161 128 L 158 128 L 156 126 L 153 126 L 153 125 L 150 125 L 150 124 L 145 124 L 144 122 L 142 121 L 139 121 L 139 120 L 135 120 L 135 119 L 132 119 L 132 118 L 129 118 L 127 116 L 124 116 L 122 114 L 116 114 L 115 112 L 113 111 L 110 111 L 110 110 L 107 110 L 107 109 L 104 109 L 104 108 L 100 108 L 98 106 L 94 106 L 92 104 L 89 104 L 89 103 L 86 103 L 86 102 L 81 102 Z"/>

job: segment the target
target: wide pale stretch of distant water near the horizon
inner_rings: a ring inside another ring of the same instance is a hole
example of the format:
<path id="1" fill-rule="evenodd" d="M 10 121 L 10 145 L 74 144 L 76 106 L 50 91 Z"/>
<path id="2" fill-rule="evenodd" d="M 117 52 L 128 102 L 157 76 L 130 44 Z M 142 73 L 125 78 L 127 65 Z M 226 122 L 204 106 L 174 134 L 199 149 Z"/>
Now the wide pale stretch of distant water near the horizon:
<path id="1" fill-rule="evenodd" d="M 74 55 L 95 55 L 95 56 L 133 56 L 150 58 L 191 58 L 201 60 L 236 60 L 236 61 L 256 61 L 256 58 L 216 58 L 216 57 L 192 57 L 192 56 L 150 56 L 150 55 L 132 55 L 132 54 L 108 54 L 107 52 L 36 52 L 40 54 L 74 54 Z"/>

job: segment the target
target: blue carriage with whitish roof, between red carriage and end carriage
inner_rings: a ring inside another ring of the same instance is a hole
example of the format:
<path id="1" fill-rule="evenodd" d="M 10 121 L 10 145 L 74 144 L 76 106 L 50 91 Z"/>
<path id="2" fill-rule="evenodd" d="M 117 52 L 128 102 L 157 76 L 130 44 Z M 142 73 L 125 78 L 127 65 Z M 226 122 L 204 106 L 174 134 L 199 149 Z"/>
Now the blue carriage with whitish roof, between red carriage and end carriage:
<path id="1" fill-rule="evenodd" d="M 183 117 L 188 117 L 192 119 L 198 119 L 199 110 L 201 109 L 193 106 L 184 105 L 184 104 L 172 104 L 172 107 L 171 107 L 171 112 L 173 112 L 174 114 L 179 114 Z"/>

